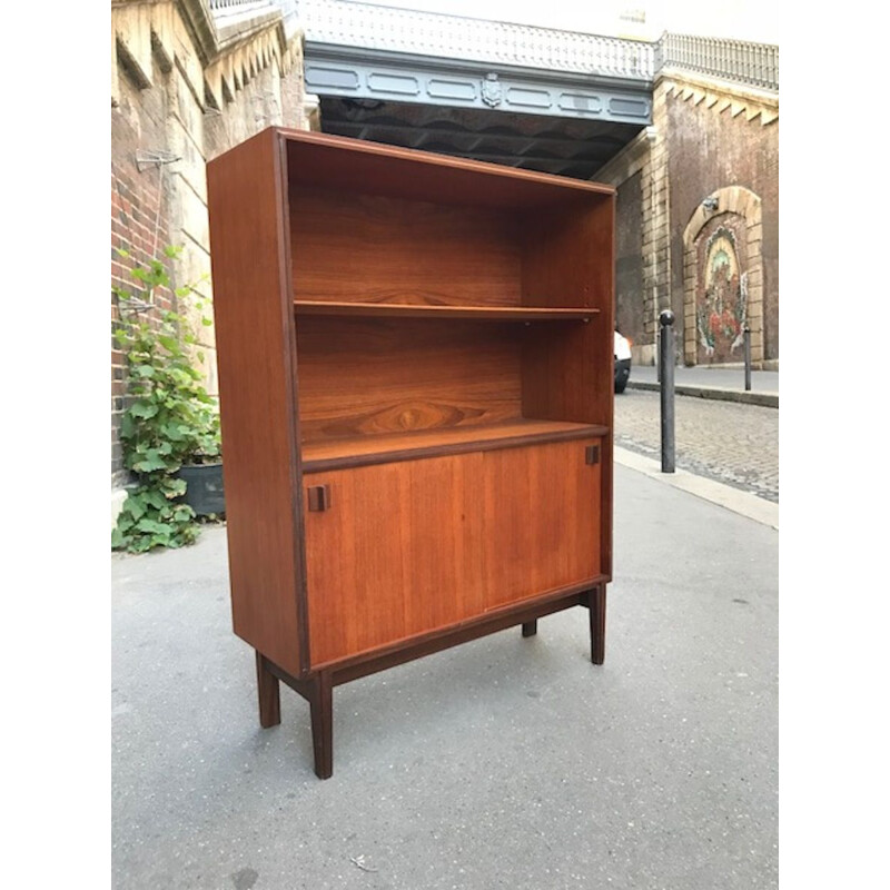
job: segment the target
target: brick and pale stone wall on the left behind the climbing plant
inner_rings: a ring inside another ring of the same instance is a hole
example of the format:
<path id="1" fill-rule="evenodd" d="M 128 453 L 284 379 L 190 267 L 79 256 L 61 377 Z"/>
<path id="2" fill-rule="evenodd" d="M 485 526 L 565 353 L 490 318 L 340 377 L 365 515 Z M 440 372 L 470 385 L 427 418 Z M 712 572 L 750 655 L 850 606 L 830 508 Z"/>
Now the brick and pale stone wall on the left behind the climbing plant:
<path id="1" fill-rule="evenodd" d="M 129 268 L 182 247 L 174 288 L 195 285 L 211 308 L 207 161 L 269 126 L 317 128 L 317 103 L 303 86 L 303 38 L 287 36 L 265 10 L 218 32 L 202 0 L 117 0 L 111 6 L 111 283 Z M 117 248 L 130 251 L 121 258 Z M 174 307 L 172 293 L 158 305 Z M 112 330 L 119 320 L 111 298 Z M 217 392 L 212 327 L 196 326 Z M 111 348 L 111 486 L 127 482 L 119 429 L 123 357 Z"/>

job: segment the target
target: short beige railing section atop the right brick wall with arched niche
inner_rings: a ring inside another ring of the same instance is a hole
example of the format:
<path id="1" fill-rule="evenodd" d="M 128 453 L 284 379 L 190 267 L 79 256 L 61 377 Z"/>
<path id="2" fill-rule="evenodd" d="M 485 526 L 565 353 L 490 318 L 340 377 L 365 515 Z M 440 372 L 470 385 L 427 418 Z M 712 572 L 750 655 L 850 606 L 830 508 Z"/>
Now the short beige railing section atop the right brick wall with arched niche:
<path id="1" fill-rule="evenodd" d="M 769 43 L 665 33 L 659 41 L 657 67 L 779 89 L 779 47 Z"/>

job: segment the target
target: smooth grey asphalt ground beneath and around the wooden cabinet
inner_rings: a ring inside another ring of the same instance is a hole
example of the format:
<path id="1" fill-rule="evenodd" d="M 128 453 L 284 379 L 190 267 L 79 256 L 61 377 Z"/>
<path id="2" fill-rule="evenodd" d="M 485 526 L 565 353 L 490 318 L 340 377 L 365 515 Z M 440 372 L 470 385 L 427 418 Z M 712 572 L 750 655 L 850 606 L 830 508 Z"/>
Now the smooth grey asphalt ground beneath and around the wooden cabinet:
<path id="1" fill-rule="evenodd" d="M 778 537 L 616 466 L 605 664 L 573 609 L 338 686 L 324 782 L 301 699 L 259 726 L 225 530 L 116 555 L 112 887 L 773 890 Z"/>

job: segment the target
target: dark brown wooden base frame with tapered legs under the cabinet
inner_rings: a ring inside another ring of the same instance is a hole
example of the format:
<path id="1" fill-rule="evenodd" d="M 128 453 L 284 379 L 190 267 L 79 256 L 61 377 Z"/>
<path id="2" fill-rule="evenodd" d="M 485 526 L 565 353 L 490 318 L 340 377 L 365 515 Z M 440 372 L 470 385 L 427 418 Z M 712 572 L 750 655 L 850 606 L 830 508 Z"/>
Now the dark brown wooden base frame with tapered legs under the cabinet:
<path id="1" fill-rule="evenodd" d="M 390 646 L 370 655 L 357 656 L 329 666 L 307 672 L 296 678 L 284 671 L 263 653 L 256 653 L 257 690 L 259 696 L 259 723 L 264 729 L 281 722 L 279 681 L 290 686 L 309 702 L 315 754 L 315 773 L 319 779 L 329 779 L 334 773 L 334 686 L 358 680 L 362 676 L 395 668 L 443 649 L 466 643 L 479 636 L 522 625 L 524 637 L 537 633 L 537 620 L 575 605 L 590 610 L 591 661 L 603 664 L 605 659 L 605 589 L 606 582 L 583 590 L 568 589 L 535 605 L 523 605 L 500 611 L 462 625 L 455 630 L 436 632 L 418 640 Z"/>

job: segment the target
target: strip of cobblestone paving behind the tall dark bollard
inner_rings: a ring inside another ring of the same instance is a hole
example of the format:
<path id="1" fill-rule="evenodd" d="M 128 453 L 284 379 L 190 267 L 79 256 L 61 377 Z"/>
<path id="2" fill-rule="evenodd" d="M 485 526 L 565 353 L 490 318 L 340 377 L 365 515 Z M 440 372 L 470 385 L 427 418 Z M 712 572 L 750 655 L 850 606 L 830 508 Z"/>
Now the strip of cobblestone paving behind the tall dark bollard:
<path id="1" fill-rule="evenodd" d="M 675 464 L 779 502 L 779 409 L 676 396 Z M 615 396 L 615 445 L 661 461 L 659 393 Z"/>

